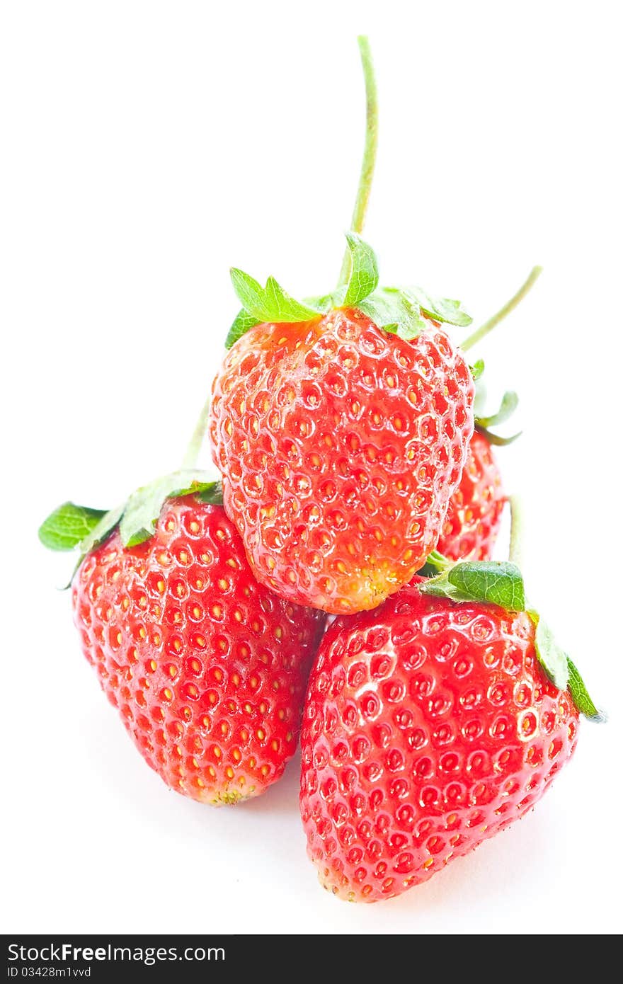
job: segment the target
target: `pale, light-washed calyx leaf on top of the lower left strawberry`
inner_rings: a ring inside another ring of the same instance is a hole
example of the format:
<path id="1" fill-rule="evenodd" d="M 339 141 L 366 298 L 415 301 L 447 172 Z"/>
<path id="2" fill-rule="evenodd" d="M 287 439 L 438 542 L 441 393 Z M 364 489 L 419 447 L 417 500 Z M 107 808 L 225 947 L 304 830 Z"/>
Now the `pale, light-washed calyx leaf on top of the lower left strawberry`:
<path id="1" fill-rule="evenodd" d="M 128 499 L 119 534 L 125 547 L 135 547 L 154 535 L 162 506 L 167 499 L 208 493 L 217 483 L 204 471 L 174 471 L 137 489 Z"/>

